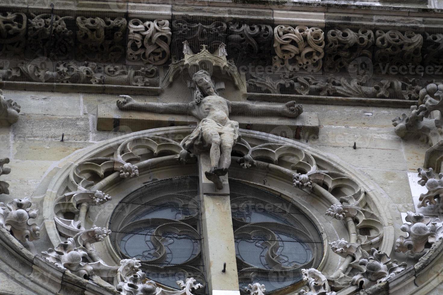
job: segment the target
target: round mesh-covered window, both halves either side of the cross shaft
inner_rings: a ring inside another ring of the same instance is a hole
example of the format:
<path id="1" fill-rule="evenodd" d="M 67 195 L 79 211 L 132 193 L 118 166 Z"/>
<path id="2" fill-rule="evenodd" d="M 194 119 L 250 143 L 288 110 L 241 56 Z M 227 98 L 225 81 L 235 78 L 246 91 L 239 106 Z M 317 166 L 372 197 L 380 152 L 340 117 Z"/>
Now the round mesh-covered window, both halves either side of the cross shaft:
<path id="1" fill-rule="evenodd" d="M 302 280 L 318 267 L 323 239 L 293 203 L 260 188 L 229 180 L 240 290 L 265 284 L 268 292 Z M 154 181 L 122 199 L 111 216 L 112 244 L 122 258 L 136 257 L 151 280 L 176 288 L 194 277 L 205 287 L 198 177 Z"/>

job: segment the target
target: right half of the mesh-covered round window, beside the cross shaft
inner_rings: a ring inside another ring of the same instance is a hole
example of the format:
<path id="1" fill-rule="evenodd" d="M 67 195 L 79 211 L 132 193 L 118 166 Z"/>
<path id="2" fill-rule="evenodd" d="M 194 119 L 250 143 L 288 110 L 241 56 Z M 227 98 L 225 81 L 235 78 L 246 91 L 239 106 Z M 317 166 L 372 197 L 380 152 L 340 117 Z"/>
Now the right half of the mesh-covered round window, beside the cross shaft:
<path id="1" fill-rule="evenodd" d="M 293 203 L 234 180 L 229 188 L 241 291 L 256 282 L 276 291 L 301 281 L 301 269 L 319 266 L 321 234 Z"/>

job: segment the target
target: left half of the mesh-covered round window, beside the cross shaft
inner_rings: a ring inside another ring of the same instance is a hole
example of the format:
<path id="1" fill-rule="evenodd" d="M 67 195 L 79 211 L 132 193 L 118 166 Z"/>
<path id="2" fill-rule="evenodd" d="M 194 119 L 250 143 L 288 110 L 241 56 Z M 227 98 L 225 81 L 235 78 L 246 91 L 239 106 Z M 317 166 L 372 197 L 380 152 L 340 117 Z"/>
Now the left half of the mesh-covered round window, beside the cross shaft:
<path id="1" fill-rule="evenodd" d="M 111 241 L 122 258 L 135 257 L 150 280 L 177 288 L 194 277 L 207 283 L 202 259 L 198 178 L 171 178 L 144 185 L 118 203 L 109 221 Z"/>

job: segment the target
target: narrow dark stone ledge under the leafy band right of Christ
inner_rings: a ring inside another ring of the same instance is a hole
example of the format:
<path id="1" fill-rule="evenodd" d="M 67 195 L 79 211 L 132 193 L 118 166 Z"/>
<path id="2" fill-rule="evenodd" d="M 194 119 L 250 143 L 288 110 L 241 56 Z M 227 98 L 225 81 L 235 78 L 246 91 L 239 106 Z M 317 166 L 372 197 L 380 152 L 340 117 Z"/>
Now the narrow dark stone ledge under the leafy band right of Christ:
<path id="1" fill-rule="evenodd" d="M 248 93 L 248 100 L 260 100 L 278 103 L 287 103 L 295 100 L 297 103 L 326 104 L 326 105 L 349 105 L 349 106 L 373 106 L 373 107 L 396 107 L 409 108 L 417 104 L 417 100 L 390 100 L 384 98 L 361 98 L 361 97 L 338 97 L 316 96 L 297 94 L 269 94 Z"/>

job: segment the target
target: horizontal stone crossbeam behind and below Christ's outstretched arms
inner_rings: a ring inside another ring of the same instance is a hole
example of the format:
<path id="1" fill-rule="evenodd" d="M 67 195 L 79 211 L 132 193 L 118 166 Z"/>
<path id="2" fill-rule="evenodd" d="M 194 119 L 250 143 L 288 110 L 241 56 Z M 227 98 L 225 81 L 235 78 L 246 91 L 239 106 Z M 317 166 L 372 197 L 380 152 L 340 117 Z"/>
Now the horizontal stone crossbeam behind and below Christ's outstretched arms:
<path id="1" fill-rule="evenodd" d="M 277 116 L 253 117 L 243 115 L 232 115 L 230 119 L 237 121 L 240 128 L 243 129 L 277 134 L 288 138 L 318 136 L 320 132 L 319 115 L 317 113 L 304 112 L 295 119 Z M 169 126 L 196 126 L 197 123 L 198 120 L 190 115 L 120 111 L 117 106 L 111 104 L 99 104 L 97 106 L 97 130 L 102 131 L 110 131 L 118 126 L 126 126 L 134 132 Z M 288 134 L 289 132 L 292 132 L 292 134 Z"/>

